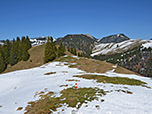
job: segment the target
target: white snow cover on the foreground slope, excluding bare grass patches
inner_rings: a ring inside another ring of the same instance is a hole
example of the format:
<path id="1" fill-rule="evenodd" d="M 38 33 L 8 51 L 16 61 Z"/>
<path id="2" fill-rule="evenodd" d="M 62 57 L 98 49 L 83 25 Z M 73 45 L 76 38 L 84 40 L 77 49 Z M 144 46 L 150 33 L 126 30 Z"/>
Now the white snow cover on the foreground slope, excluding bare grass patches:
<path id="1" fill-rule="evenodd" d="M 114 66 L 114 69 L 115 68 L 116 66 Z M 152 87 L 152 80 L 150 78 L 137 75 L 118 74 L 113 71 L 114 70 L 108 71 L 103 75 L 135 78 L 147 82 L 148 86 Z M 44 75 L 48 72 L 56 72 L 56 74 Z M 68 87 L 72 87 L 75 84 L 75 82 L 67 82 L 66 79 L 80 80 L 80 82 L 77 82 L 78 87 L 98 87 L 104 90 L 116 90 L 128 87 L 129 91 L 132 91 L 133 94 L 111 92 L 106 96 L 101 97 L 101 99 L 105 99 L 104 102 L 97 100 L 88 102 L 88 107 L 85 106 L 86 104 L 83 104 L 79 110 L 64 106 L 58 108 L 54 113 L 150 114 L 152 112 L 152 89 L 141 86 L 97 83 L 94 80 L 73 77 L 73 75 L 80 74 L 86 74 L 86 72 L 76 68 L 69 68 L 61 62 L 53 62 L 37 68 L 0 74 L 0 105 L 2 106 L 0 107 L 0 114 L 23 114 L 24 110 L 16 111 L 16 109 L 18 107 L 25 108 L 27 102 L 38 99 L 38 97 L 34 97 L 36 92 L 48 90 L 55 92 L 56 96 L 58 96 L 61 90 L 67 88 L 59 87 L 60 85 L 68 84 Z M 94 74 L 101 75 L 100 73 Z M 97 109 L 95 107 L 96 105 L 99 105 L 100 108 Z M 62 109 L 64 109 L 64 112 L 61 111 Z"/>

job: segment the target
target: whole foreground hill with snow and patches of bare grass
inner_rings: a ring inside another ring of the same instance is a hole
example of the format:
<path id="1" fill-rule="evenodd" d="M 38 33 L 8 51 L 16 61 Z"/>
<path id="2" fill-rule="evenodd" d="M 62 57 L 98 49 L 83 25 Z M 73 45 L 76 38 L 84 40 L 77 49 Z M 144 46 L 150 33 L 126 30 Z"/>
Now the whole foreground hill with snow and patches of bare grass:
<path id="1" fill-rule="evenodd" d="M 151 113 L 152 80 L 115 73 L 116 69 L 110 63 L 64 56 L 40 67 L 0 74 L 0 112 Z"/>

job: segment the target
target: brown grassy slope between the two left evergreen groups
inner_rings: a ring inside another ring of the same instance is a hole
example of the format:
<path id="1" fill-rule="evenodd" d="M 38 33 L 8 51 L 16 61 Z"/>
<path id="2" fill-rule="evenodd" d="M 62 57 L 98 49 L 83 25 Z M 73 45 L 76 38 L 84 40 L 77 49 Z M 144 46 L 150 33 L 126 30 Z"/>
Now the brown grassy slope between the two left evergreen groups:
<path id="1" fill-rule="evenodd" d="M 45 49 L 45 45 L 32 47 L 29 50 L 29 54 L 30 54 L 29 60 L 20 61 L 14 66 L 8 65 L 4 73 L 41 66 L 43 64 L 44 49 Z"/>

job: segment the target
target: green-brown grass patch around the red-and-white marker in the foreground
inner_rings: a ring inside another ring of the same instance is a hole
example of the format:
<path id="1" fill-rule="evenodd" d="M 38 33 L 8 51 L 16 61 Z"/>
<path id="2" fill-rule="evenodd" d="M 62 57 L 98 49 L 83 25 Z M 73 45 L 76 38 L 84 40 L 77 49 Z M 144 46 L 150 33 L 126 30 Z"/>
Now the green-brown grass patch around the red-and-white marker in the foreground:
<path id="1" fill-rule="evenodd" d="M 67 88 L 60 93 L 60 97 L 52 96 L 53 92 L 50 92 L 35 102 L 29 102 L 24 114 L 51 114 L 63 104 L 79 109 L 83 103 L 99 100 L 100 96 L 106 95 L 106 91 L 99 88 Z"/>

